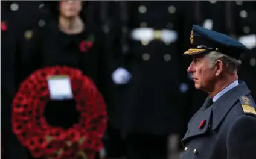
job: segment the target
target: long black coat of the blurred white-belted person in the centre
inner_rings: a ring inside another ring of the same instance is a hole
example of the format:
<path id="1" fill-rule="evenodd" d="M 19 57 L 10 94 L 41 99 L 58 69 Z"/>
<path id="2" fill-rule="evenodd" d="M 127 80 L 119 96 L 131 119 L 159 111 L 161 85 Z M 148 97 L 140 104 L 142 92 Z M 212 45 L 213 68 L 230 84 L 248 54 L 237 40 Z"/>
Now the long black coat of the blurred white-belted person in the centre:
<path id="1" fill-rule="evenodd" d="M 126 9 L 129 51 L 124 67 L 132 79 L 124 86 L 117 86 L 119 98 L 110 112 L 110 125 L 123 133 L 179 133 L 183 124 L 178 45 L 182 33 L 182 4 L 131 1 Z M 134 40 L 131 32 L 139 27 L 172 30 L 177 33 L 177 39 L 172 43 Z"/>

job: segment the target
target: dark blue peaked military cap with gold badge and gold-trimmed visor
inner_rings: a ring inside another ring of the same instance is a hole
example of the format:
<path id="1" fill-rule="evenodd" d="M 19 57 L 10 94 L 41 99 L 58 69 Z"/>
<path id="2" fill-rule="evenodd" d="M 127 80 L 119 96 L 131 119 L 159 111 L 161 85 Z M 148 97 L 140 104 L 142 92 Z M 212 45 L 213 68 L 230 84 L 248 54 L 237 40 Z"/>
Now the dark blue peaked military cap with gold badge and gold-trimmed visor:
<path id="1" fill-rule="evenodd" d="M 185 51 L 183 55 L 218 51 L 239 60 L 240 55 L 247 50 L 245 45 L 226 34 L 208 30 L 199 25 L 193 25 L 190 34 L 190 43 L 191 48 Z"/>

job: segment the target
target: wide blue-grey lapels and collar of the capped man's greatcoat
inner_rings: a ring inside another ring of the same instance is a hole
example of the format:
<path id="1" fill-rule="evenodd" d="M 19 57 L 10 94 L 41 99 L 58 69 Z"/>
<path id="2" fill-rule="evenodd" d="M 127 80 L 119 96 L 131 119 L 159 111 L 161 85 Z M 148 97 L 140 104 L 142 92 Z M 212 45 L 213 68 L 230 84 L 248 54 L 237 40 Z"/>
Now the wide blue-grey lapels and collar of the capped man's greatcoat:
<path id="1" fill-rule="evenodd" d="M 248 95 L 250 90 L 246 86 L 243 81 L 239 81 L 239 85 L 234 87 L 233 89 L 226 92 L 223 96 L 217 99 L 211 107 L 208 107 L 209 99 L 206 98 L 205 103 L 197 111 L 196 114 L 191 118 L 190 122 L 188 123 L 188 130 L 185 134 L 184 138 L 181 140 L 182 144 L 187 142 L 188 139 L 191 137 L 199 136 L 201 134 L 206 133 L 208 130 L 208 125 L 210 120 L 212 119 L 212 129 L 216 129 L 217 126 L 222 122 L 228 111 L 232 108 L 235 102 L 238 101 L 240 96 Z M 211 118 L 212 114 L 212 118 Z M 204 125 L 202 128 L 199 128 L 200 123 L 205 120 Z"/>

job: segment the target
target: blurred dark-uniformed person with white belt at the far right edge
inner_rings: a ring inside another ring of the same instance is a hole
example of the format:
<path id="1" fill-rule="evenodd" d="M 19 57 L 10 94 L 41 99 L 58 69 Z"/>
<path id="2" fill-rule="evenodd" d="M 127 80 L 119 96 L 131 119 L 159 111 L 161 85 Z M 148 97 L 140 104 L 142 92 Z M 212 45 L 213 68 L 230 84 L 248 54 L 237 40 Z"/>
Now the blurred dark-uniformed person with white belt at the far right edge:
<path id="1" fill-rule="evenodd" d="M 235 36 L 250 51 L 243 54 L 240 78 L 251 89 L 252 98 L 256 98 L 256 2 L 235 1 Z"/>

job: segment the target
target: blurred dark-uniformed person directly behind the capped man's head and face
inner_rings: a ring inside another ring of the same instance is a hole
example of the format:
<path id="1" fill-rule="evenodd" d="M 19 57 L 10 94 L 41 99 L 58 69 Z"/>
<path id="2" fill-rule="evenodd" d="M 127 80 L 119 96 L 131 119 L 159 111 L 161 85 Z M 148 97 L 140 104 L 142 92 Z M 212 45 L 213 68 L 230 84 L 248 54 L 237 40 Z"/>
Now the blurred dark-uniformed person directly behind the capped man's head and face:
<path id="1" fill-rule="evenodd" d="M 209 30 L 218 31 L 224 34 L 231 34 L 234 31 L 234 18 L 231 14 L 230 1 L 189 1 L 186 5 L 186 17 L 184 18 L 184 49 L 190 45 L 187 37 L 190 35 L 191 27 L 193 24 L 200 25 Z M 190 64 L 190 58 L 184 58 L 184 66 L 188 67 Z M 200 108 L 207 96 L 206 92 L 194 89 L 193 81 L 190 73 L 184 72 L 184 78 L 188 83 L 188 92 L 186 95 L 186 120 L 187 122 L 193 116 L 194 113 Z"/>

